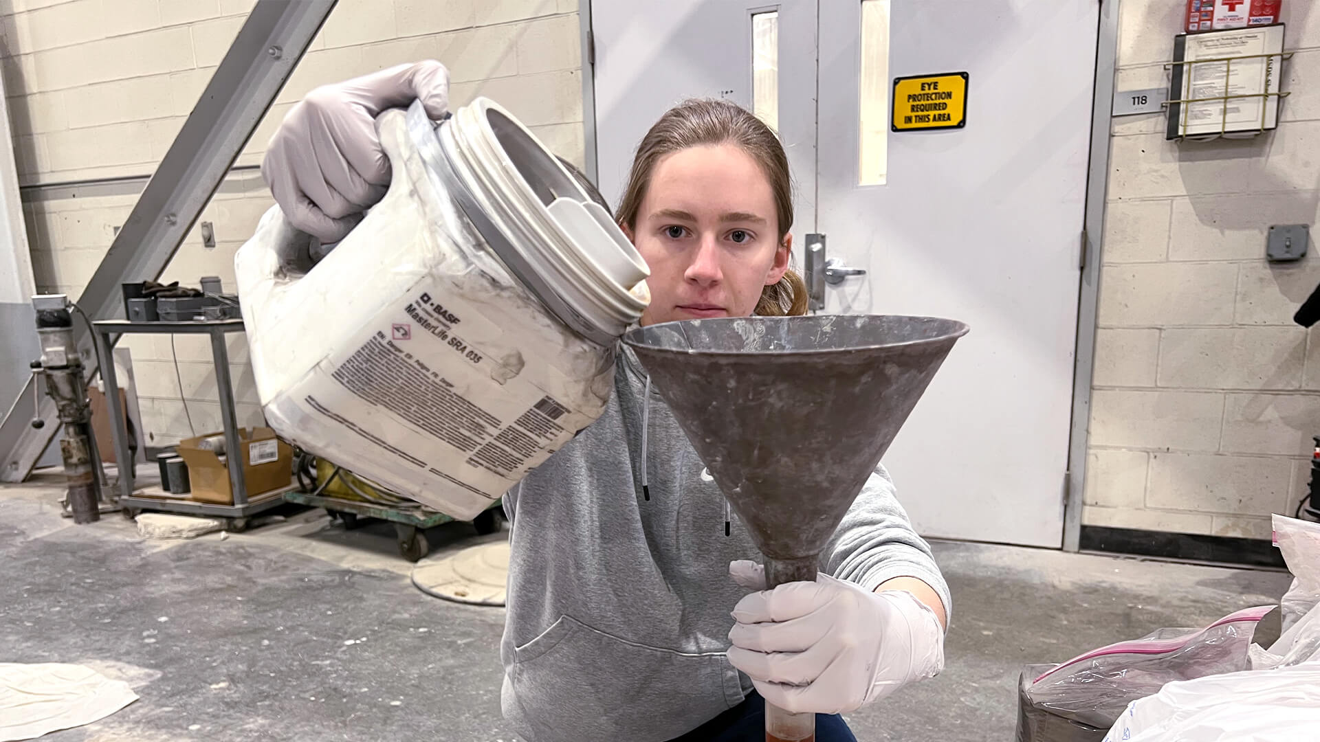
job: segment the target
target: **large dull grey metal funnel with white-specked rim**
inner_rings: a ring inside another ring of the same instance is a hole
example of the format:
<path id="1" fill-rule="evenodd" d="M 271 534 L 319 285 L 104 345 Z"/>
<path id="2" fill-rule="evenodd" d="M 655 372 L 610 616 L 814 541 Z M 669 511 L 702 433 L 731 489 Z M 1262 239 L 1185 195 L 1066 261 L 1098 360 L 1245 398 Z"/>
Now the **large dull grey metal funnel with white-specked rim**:
<path id="1" fill-rule="evenodd" d="M 816 560 L 968 326 L 898 316 L 635 329 L 636 351 L 756 547 L 771 586 Z"/>

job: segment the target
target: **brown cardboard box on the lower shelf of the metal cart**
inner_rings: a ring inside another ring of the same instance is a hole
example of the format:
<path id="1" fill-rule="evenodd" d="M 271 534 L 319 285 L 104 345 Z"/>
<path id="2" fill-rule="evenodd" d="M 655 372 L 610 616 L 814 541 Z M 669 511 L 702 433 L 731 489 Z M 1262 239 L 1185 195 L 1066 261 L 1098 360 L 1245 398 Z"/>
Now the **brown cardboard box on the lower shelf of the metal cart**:
<path id="1" fill-rule="evenodd" d="M 178 444 L 178 454 L 187 463 L 187 478 L 193 485 L 193 499 L 206 503 L 234 504 L 230 471 L 226 461 L 199 444 L 218 433 L 187 438 Z M 248 500 L 263 492 L 288 487 L 293 481 L 293 446 L 276 437 L 269 428 L 240 428 L 239 452 L 243 455 L 243 477 Z"/>

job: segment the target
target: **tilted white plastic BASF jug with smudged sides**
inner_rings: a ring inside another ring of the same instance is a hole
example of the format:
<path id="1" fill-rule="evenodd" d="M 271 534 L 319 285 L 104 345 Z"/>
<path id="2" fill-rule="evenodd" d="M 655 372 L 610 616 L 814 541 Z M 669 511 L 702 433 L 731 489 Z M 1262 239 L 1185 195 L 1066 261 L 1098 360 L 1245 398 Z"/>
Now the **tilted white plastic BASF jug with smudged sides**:
<path id="1" fill-rule="evenodd" d="M 281 437 L 470 519 L 601 415 L 648 271 L 494 102 L 376 128 L 389 190 L 329 255 L 279 207 L 238 252 L 257 392 Z"/>

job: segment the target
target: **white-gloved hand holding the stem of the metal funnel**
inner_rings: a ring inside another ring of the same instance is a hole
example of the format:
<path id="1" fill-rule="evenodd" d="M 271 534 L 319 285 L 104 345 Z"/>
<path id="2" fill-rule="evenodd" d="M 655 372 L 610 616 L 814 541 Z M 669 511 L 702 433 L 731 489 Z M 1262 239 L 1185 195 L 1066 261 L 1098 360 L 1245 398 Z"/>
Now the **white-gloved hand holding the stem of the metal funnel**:
<path id="1" fill-rule="evenodd" d="M 829 574 L 764 590 L 751 561 L 729 574 L 759 590 L 734 607 L 729 661 L 784 710 L 849 713 L 944 669 L 940 621 L 907 590 L 867 593 Z"/>

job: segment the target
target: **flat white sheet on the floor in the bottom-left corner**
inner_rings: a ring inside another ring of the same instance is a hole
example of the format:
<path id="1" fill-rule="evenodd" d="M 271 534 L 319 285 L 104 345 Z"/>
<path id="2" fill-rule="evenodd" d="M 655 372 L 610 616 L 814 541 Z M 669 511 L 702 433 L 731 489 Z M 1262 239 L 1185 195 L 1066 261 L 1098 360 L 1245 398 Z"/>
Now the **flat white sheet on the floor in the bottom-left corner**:
<path id="1" fill-rule="evenodd" d="M 0 742 L 91 724 L 136 700 L 127 683 L 81 664 L 0 663 Z"/>

